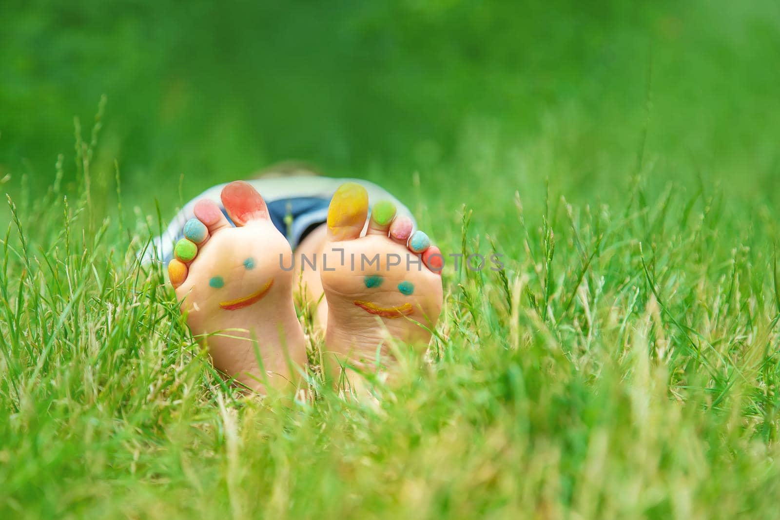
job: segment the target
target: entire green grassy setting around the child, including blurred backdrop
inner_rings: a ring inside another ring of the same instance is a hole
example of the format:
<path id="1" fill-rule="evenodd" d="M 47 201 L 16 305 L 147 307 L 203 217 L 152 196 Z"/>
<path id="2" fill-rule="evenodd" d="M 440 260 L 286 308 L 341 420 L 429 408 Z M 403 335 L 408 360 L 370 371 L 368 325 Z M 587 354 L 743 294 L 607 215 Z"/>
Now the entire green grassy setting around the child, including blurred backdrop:
<path id="1" fill-rule="evenodd" d="M 0 23 L 2 518 L 777 518 L 777 2 Z M 288 159 L 502 255 L 445 270 L 378 404 L 314 370 L 314 399 L 226 386 L 137 263 L 191 197 Z"/>

